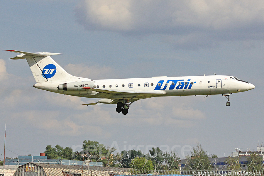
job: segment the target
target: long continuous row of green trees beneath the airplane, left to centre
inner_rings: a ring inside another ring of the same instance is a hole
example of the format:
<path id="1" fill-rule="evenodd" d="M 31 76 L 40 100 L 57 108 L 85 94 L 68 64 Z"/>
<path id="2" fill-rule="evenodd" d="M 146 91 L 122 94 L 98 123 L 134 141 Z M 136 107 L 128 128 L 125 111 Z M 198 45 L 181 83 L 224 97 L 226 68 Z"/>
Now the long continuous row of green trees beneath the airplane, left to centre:
<path id="1" fill-rule="evenodd" d="M 163 153 L 159 147 L 152 148 L 149 153 L 144 154 L 141 150 L 123 150 L 121 153 L 112 154 L 116 149 L 114 147 L 106 147 L 104 144 L 98 141 L 83 141 L 82 150 L 72 152 L 72 148 L 63 148 L 60 145 L 52 147 L 46 146 L 44 151 L 48 159 L 74 159 L 74 160 L 86 160 L 88 157 L 92 161 L 102 162 L 105 167 L 125 167 L 130 168 L 133 166 L 136 168 L 153 169 L 153 165 L 156 170 L 176 170 L 180 158 L 175 152 Z M 137 160 L 136 160 L 137 158 Z M 140 159 L 138 159 L 140 158 Z M 144 158 L 144 159 L 143 159 Z M 147 159 L 149 160 L 147 160 Z M 144 162 L 143 162 L 144 161 Z M 132 164 L 133 162 L 133 164 Z M 139 162 L 139 163 L 138 163 Z M 142 165 L 142 163 L 144 163 Z"/>

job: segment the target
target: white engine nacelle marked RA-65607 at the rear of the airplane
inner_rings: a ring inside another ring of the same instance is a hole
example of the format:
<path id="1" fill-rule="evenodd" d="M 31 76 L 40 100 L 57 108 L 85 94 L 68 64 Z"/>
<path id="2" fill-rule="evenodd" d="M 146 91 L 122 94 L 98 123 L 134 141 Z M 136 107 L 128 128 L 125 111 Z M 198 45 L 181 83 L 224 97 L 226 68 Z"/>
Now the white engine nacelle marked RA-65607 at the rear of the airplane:
<path id="1" fill-rule="evenodd" d="M 82 81 L 82 82 L 69 82 L 69 83 L 64 83 L 58 85 L 59 90 L 75 90 L 75 91 L 80 91 L 80 90 L 85 90 L 81 88 L 88 88 L 92 87 L 95 88 L 96 82 L 94 81 Z"/>

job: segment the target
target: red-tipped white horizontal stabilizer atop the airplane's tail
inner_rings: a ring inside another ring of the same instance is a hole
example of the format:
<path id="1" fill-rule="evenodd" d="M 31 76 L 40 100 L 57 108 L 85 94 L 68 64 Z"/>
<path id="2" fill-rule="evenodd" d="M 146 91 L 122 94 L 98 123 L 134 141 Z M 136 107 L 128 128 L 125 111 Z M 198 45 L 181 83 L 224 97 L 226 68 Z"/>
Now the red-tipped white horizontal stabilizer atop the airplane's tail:
<path id="1" fill-rule="evenodd" d="M 47 52 L 41 52 L 41 53 L 29 53 L 24 51 L 16 51 L 16 50 L 4 50 L 4 51 L 11 51 L 14 53 L 19 53 L 20 55 L 17 55 L 16 57 L 10 58 L 10 59 L 26 59 L 26 58 L 34 58 L 34 57 L 45 57 L 45 56 L 51 56 L 51 55 L 59 55 L 61 53 L 47 53 Z"/>

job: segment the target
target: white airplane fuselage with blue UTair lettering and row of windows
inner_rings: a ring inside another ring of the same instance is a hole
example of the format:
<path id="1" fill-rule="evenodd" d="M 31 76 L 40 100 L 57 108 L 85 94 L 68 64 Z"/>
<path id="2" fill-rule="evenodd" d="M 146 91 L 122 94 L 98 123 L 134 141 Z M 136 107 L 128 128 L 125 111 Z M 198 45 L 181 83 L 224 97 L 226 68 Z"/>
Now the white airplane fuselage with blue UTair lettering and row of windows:
<path id="1" fill-rule="evenodd" d="M 82 78 L 82 81 L 88 79 Z M 253 84 L 238 80 L 233 76 L 211 75 L 211 76 L 184 76 L 184 77 L 152 77 L 152 78 L 131 78 L 131 79 L 99 79 L 92 80 L 95 87 L 99 89 L 120 91 L 120 92 L 138 92 L 135 99 L 144 99 L 160 96 L 187 96 L 187 95 L 212 95 L 244 92 L 255 88 Z M 72 82 L 72 81 L 71 81 Z M 80 82 L 80 81 L 79 81 Z M 67 94 L 78 97 L 123 99 L 129 97 L 127 94 L 107 94 L 94 92 L 89 89 L 83 89 L 86 85 L 74 90 L 60 91 L 59 84 L 67 82 L 42 82 L 34 87 L 44 89 L 50 92 Z M 144 92 L 160 92 L 162 94 L 146 95 Z M 140 94 L 144 95 L 140 95 Z M 131 95 L 132 96 L 132 95 Z M 134 95 L 132 96 L 134 97 Z"/>

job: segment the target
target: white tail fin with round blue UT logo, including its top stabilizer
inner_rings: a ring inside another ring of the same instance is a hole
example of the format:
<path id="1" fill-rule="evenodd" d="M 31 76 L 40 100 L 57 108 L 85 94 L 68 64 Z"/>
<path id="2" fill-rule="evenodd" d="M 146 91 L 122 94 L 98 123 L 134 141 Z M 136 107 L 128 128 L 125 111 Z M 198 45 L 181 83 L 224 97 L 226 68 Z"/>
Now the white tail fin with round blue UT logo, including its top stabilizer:
<path id="1" fill-rule="evenodd" d="M 60 53 L 28 53 L 15 50 L 5 51 L 20 53 L 20 55 L 10 59 L 26 59 L 36 82 L 70 81 L 74 77 L 67 73 L 50 57 L 50 55 L 59 55 Z"/>

